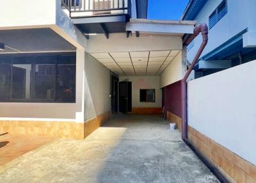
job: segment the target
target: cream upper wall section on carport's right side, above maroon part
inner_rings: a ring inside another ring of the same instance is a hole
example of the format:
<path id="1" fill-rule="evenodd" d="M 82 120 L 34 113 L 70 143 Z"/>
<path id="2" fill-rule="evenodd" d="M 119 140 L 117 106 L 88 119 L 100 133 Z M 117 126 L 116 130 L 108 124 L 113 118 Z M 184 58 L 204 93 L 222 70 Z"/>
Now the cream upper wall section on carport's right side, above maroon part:
<path id="1" fill-rule="evenodd" d="M 182 72 L 182 51 L 180 51 L 173 61 L 166 67 L 160 76 L 160 88 L 168 86 L 182 79 L 184 72 Z"/>

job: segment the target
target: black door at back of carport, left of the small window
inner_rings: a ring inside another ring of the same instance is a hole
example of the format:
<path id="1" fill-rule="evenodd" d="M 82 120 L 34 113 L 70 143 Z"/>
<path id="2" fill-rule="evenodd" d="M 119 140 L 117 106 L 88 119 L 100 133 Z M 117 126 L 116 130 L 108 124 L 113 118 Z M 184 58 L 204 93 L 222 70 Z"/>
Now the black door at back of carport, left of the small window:
<path id="1" fill-rule="evenodd" d="M 132 83 L 122 81 L 119 83 L 119 111 L 127 113 L 132 111 Z"/>

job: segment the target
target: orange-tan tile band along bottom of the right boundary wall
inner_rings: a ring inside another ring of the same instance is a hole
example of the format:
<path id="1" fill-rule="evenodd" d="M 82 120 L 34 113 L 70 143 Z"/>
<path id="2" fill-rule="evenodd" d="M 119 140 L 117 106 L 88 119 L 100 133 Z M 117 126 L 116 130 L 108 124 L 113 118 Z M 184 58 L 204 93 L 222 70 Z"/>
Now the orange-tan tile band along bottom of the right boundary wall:
<path id="1" fill-rule="evenodd" d="M 188 139 L 230 182 L 256 183 L 256 166 L 188 126 Z"/>

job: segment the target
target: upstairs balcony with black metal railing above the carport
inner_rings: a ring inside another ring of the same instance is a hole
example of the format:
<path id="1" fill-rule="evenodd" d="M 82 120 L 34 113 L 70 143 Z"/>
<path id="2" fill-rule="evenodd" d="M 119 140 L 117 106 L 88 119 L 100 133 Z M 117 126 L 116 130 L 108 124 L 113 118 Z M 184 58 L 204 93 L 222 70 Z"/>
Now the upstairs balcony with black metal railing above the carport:
<path id="1" fill-rule="evenodd" d="M 131 0 L 61 0 L 63 10 L 89 39 L 90 35 L 125 33 Z"/>

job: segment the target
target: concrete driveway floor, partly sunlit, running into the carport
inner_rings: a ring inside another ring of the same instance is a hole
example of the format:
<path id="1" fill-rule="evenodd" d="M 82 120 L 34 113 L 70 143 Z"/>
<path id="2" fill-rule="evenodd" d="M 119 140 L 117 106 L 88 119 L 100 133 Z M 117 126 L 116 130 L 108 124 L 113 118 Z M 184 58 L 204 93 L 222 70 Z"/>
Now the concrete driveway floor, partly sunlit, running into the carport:
<path id="1" fill-rule="evenodd" d="M 57 139 L 20 158 L 1 182 L 218 182 L 157 116 L 115 115 L 88 138 Z"/>

